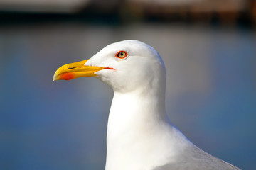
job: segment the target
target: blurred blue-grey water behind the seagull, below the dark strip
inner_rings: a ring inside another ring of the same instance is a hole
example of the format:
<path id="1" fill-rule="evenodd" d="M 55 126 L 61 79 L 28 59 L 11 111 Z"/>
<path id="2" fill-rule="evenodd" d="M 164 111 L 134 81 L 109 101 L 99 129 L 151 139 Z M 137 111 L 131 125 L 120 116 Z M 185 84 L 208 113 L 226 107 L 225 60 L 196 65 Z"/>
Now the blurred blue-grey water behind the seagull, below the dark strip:
<path id="1" fill-rule="evenodd" d="M 41 24 L 0 28 L 0 169 L 104 169 L 112 90 L 55 69 L 136 39 L 166 64 L 166 110 L 198 147 L 254 169 L 256 35 L 183 25 Z"/>

